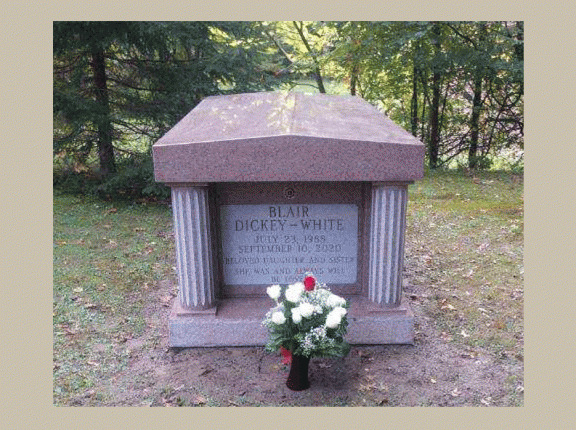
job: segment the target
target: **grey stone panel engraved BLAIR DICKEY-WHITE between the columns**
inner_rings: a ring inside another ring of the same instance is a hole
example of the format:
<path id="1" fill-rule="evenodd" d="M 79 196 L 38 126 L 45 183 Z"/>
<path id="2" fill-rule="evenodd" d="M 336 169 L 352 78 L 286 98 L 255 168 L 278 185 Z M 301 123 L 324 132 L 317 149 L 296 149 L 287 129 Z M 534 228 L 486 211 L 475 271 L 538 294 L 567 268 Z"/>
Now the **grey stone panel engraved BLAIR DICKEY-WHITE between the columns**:
<path id="1" fill-rule="evenodd" d="M 226 285 L 292 283 L 307 271 L 356 282 L 356 205 L 222 205 L 220 223 Z"/>

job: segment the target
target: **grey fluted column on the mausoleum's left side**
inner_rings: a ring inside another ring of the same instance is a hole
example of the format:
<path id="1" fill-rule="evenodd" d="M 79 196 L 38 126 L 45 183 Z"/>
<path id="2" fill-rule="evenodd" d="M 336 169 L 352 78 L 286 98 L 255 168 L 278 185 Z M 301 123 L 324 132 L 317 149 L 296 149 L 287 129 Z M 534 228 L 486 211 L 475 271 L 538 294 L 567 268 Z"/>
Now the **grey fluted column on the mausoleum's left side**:
<path id="1" fill-rule="evenodd" d="M 172 213 L 180 305 L 192 310 L 210 308 L 214 306 L 214 274 L 207 187 L 172 187 Z"/>

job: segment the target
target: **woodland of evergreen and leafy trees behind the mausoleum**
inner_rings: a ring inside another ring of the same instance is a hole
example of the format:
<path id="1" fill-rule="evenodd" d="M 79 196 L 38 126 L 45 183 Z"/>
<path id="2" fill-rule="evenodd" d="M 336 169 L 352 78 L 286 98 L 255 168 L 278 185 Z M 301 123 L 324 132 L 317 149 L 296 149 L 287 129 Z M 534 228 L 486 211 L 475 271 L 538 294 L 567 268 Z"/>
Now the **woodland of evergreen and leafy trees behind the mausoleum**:
<path id="1" fill-rule="evenodd" d="M 427 169 L 524 165 L 522 21 L 54 22 L 53 184 L 167 198 L 152 144 L 204 97 L 362 97 L 426 145 Z"/>

